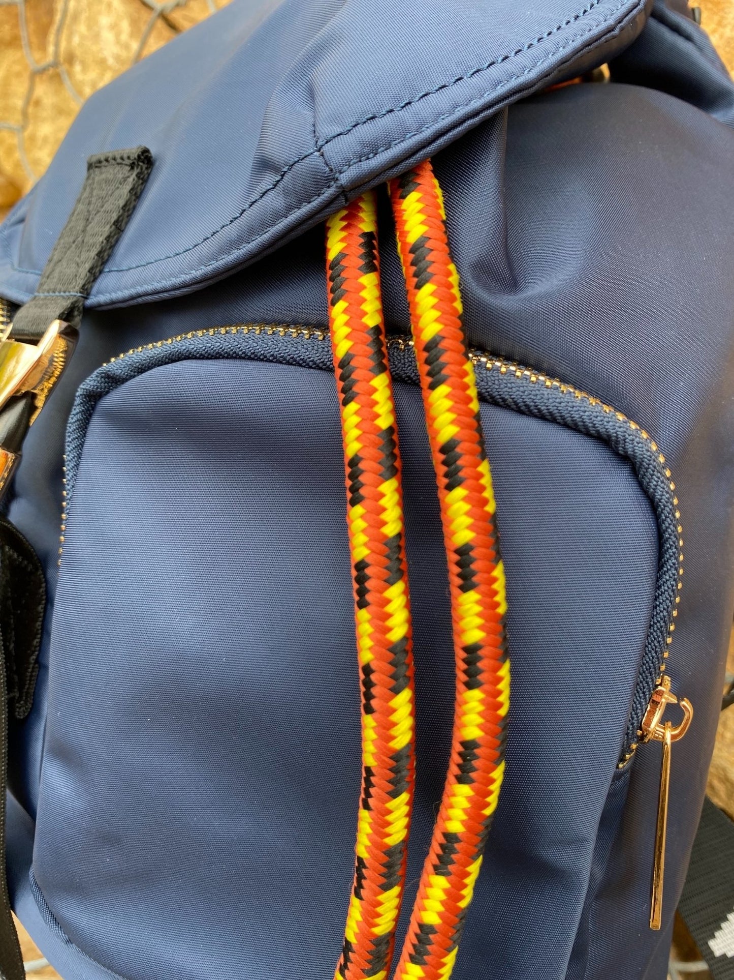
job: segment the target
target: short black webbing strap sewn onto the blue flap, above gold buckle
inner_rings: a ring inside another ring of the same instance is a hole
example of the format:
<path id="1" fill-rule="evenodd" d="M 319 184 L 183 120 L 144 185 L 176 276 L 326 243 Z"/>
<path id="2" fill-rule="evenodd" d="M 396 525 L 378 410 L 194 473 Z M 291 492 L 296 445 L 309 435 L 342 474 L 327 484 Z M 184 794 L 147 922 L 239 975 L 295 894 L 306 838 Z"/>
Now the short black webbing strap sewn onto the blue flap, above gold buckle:
<path id="1" fill-rule="evenodd" d="M 84 300 L 110 258 L 152 167 L 153 157 L 145 146 L 89 158 L 84 186 L 35 296 L 13 319 L 14 339 L 38 340 L 55 319 L 78 325 Z"/>

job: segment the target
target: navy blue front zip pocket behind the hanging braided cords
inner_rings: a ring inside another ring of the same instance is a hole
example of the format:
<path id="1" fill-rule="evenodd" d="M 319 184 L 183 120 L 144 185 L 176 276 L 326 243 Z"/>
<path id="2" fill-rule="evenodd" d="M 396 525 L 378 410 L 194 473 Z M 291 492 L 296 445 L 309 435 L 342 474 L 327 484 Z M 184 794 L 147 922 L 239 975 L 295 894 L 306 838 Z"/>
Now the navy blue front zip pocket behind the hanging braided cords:
<path id="1" fill-rule="evenodd" d="M 390 348 L 419 688 L 410 881 L 445 770 L 452 659 L 413 352 Z M 543 374 L 474 361 L 516 663 L 508 784 L 465 939 L 496 972 L 482 936 L 530 927 L 510 880 L 541 931 L 549 895 L 573 907 L 585 892 L 595 821 L 665 661 L 679 532 L 646 433 Z M 295 949 L 303 980 L 334 968 L 360 761 L 331 367 L 324 330 L 246 324 L 130 352 L 78 392 L 32 880 L 69 942 L 130 980 L 224 972 L 233 944 L 252 980 L 286 975 Z M 133 896 L 155 919 L 161 894 L 152 963 L 145 936 L 111 942 L 105 923 Z"/>

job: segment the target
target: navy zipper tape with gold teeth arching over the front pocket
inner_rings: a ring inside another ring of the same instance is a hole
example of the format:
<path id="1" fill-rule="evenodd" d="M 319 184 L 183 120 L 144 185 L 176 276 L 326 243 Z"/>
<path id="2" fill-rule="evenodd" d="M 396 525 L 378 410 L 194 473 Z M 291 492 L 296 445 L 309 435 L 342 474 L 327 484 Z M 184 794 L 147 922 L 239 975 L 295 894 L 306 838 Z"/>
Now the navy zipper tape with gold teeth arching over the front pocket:
<path id="1" fill-rule="evenodd" d="M 283 323 L 243 323 L 233 326 L 209 327 L 205 330 L 194 330 L 190 333 L 179 334 L 167 340 L 134 348 L 125 354 L 113 358 L 107 365 L 100 368 L 82 387 L 77 398 L 76 417 L 81 422 L 81 432 L 76 434 L 76 426 L 69 431 L 69 454 L 65 465 L 64 514 L 62 517 L 63 532 L 66 528 L 66 508 L 72 485 L 76 475 L 78 456 L 83 444 L 85 425 L 100 397 L 103 397 L 115 384 L 114 366 L 122 361 L 129 366 L 130 359 L 146 358 L 144 370 L 149 370 L 147 360 L 155 364 L 167 364 L 187 357 L 186 347 L 195 347 L 195 356 L 216 358 L 222 356 L 217 338 L 229 336 L 261 337 L 268 340 L 296 340 L 315 342 L 320 350 L 305 360 L 309 366 L 331 368 L 328 357 L 328 333 L 316 326 L 293 326 Z M 201 350 L 201 341 L 205 341 L 206 352 Z M 226 345 L 225 345 L 226 346 Z M 272 343 L 255 344 L 259 354 L 266 360 L 271 358 Z M 417 382 L 417 372 L 412 365 L 413 342 L 408 337 L 392 336 L 390 338 L 391 368 L 398 380 Z M 150 352 L 150 353 L 149 353 Z M 154 352 L 160 352 L 158 355 Z M 256 356 L 253 350 L 251 356 Z M 405 355 L 407 354 L 407 357 Z M 151 357 L 151 355 L 153 355 Z M 227 356 L 227 352 L 224 352 Z M 230 355 L 231 356 L 231 355 Z M 640 664 L 640 677 L 635 689 L 633 708 L 625 733 L 624 744 L 619 765 L 623 766 L 632 758 L 640 738 L 643 737 L 642 721 L 653 695 L 661 683 L 661 675 L 665 672 L 665 661 L 668 657 L 668 647 L 672 643 L 672 634 L 677 617 L 676 606 L 680 599 L 677 593 L 682 587 L 683 563 L 683 528 L 680 524 L 681 515 L 678 511 L 678 500 L 674 496 L 675 484 L 672 473 L 665 462 L 665 456 L 655 441 L 636 422 L 617 412 L 598 398 L 573 385 L 548 377 L 540 371 L 524 368 L 513 362 L 493 358 L 481 351 L 472 352 L 472 361 L 477 369 L 477 379 L 482 399 L 493 404 L 522 412 L 528 416 L 545 418 L 548 421 L 567 425 L 575 431 L 607 442 L 619 456 L 628 459 L 635 474 L 649 497 L 658 521 L 661 539 L 661 559 L 656 581 L 655 611 L 651 620 L 650 636 L 645 648 L 645 656 Z M 284 357 L 289 352 L 284 351 Z M 287 362 L 284 362 L 287 363 Z M 108 368 L 112 368 L 108 370 Z M 126 367 L 118 377 L 124 379 L 130 370 Z M 486 372 L 486 373 L 485 373 Z M 71 460 L 69 462 L 69 455 Z M 60 548 L 60 555 L 63 547 Z"/>

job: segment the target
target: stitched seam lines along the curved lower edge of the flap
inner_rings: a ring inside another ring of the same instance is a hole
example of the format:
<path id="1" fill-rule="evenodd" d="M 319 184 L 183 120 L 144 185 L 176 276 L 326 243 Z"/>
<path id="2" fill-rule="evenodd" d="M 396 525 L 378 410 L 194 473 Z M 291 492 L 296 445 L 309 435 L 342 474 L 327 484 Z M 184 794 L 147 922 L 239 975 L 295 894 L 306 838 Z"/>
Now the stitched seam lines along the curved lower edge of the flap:
<path id="1" fill-rule="evenodd" d="M 535 38 L 532 41 L 529 41 L 528 44 L 524 48 L 520 48 L 519 50 L 513 52 L 512 54 L 503 55 L 501 58 L 496 59 L 495 61 L 490 62 L 487 65 L 483 65 L 480 68 L 474 69 L 470 73 L 460 75 L 460 76 L 454 78 L 450 82 L 444 82 L 442 85 L 439 85 L 435 89 L 431 89 L 428 92 L 423 92 L 421 95 L 416 96 L 416 98 L 410 100 L 409 102 L 405 102 L 402 105 L 397 106 L 397 107 L 394 107 L 394 106 L 393 107 L 390 107 L 390 109 L 386 109 L 382 113 L 379 113 L 379 114 L 377 114 L 375 116 L 368 117 L 367 119 L 364 119 L 364 120 L 360 120 L 357 123 L 351 123 L 351 125 L 347 126 L 346 129 L 344 129 L 344 130 L 342 130 L 340 132 L 334 133 L 331 136 L 325 137 L 320 143 L 317 143 L 315 145 L 315 147 L 314 147 L 313 150 L 310 150 L 308 153 L 304 154 L 301 157 L 298 157 L 297 160 L 294 160 L 290 164 L 288 164 L 288 166 L 285 167 L 275 177 L 274 181 L 271 184 L 269 184 L 267 187 L 265 187 L 256 197 L 252 198 L 252 200 L 242 209 L 242 211 L 239 212 L 239 214 L 235 215 L 234 218 L 230 219 L 229 221 L 225 221 L 224 224 L 220 225 L 214 231 L 209 232 L 209 234 L 205 235 L 204 238 L 202 238 L 198 242 L 195 242 L 193 245 L 189 245 L 185 249 L 181 249 L 178 252 L 171 252 L 168 255 L 163 255 L 163 256 L 160 256 L 157 259 L 151 259 L 148 262 L 142 262 L 142 263 L 139 263 L 139 264 L 137 264 L 135 266 L 126 266 L 126 267 L 119 267 L 119 268 L 115 267 L 115 268 L 111 268 L 111 269 L 106 269 L 106 270 L 103 270 L 100 274 L 101 275 L 105 275 L 108 272 L 129 272 L 129 271 L 133 271 L 133 270 L 137 270 L 137 269 L 145 269 L 148 266 L 153 266 L 153 265 L 156 265 L 157 263 L 165 262 L 168 259 L 175 259 L 175 258 L 178 258 L 181 255 L 187 254 L 188 252 L 194 251 L 195 249 L 199 248 L 200 245 L 203 245 L 206 241 L 208 241 L 209 239 L 213 238 L 215 235 L 219 234 L 225 228 L 227 228 L 230 225 L 234 224 L 235 221 L 239 221 L 248 211 L 250 211 L 252 209 L 252 207 L 254 207 L 255 204 L 257 204 L 260 200 L 262 200 L 263 197 L 265 197 L 267 194 L 269 194 L 270 191 L 275 190 L 275 188 L 283 181 L 283 179 L 286 177 L 286 175 L 289 172 L 291 172 L 295 167 L 297 167 L 298 164 L 303 163 L 304 161 L 308 160 L 310 157 L 313 157 L 314 155 L 320 154 L 321 151 L 324 149 L 324 147 L 327 146 L 329 143 L 333 142 L 335 139 L 338 139 L 340 136 L 346 135 L 347 133 L 351 132 L 352 130 L 354 130 L 355 128 L 357 128 L 360 125 L 363 125 L 365 123 L 374 122 L 375 120 L 382 119 L 385 116 L 389 116 L 390 114 L 395 114 L 395 113 L 398 113 L 398 112 L 402 112 L 403 110 L 409 108 L 410 106 L 412 106 L 415 103 L 421 101 L 422 99 L 424 99 L 424 98 L 426 98 L 426 97 L 428 97 L 430 95 L 436 94 L 436 92 L 443 91 L 443 90 L 445 90 L 447 88 L 450 88 L 450 87 L 458 84 L 461 81 L 467 80 L 468 78 L 475 77 L 476 75 L 481 74 L 483 72 L 486 72 L 489 69 L 491 69 L 491 68 L 493 68 L 493 67 L 495 67 L 495 66 L 497 66 L 499 64 L 502 64 L 502 63 L 507 62 L 507 61 L 511 61 L 513 58 L 516 58 L 519 55 L 524 54 L 526 51 L 530 50 L 531 48 L 536 47 L 540 42 L 542 42 L 544 40 L 547 40 L 548 37 L 552 37 L 559 30 L 563 30 L 565 27 L 570 26 L 570 25 L 576 23 L 577 21 L 581 20 L 581 18 L 583 18 L 586 15 L 588 15 L 595 7 L 599 6 L 599 4 L 602 3 L 602 2 L 603 2 L 603 0 L 592 0 L 592 3 L 591 4 L 589 4 L 586 7 L 582 8 L 582 10 L 580 10 L 578 13 L 576 13 L 575 15 L 573 15 L 573 17 L 570 20 L 564 22 L 563 24 L 557 25 L 556 27 L 554 27 L 551 30 L 547 31 L 545 34 L 542 34 L 540 37 Z M 267 230 L 264 231 L 262 234 L 256 235 L 254 238 L 249 239 L 242 246 L 240 246 L 240 248 L 238 249 L 238 251 L 242 251 L 243 248 L 247 248 L 247 247 L 249 247 L 251 245 L 256 244 L 261 238 L 264 238 L 266 235 L 272 233 L 272 231 L 273 231 L 274 228 L 277 228 L 280 224 L 284 223 L 285 221 L 289 221 L 290 219 L 296 217 L 301 211 L 305 210 L 309 205 L 311 205 L 315 201 L 319 200 L 319 198 L 326 197 L 327 194 L 328 194 L 328 192 L 329 192 L 329 190 L 331 190 L 331 188 L 334 187 L 335 185 L 338 185 L 339 180 L 340 180 L 340 177 L 342 177 L 344 175 L 344 173 L 349 170 L 350 167 L 354 167 L 354 166 L 356 166 L 357 164 L 360 164 L 360 163 L 365 163 L 366 161 L 372 160 L 374 157 L 378 156 L 381 153 L 385 153 L 388 150 L 394 149 L 394 147 L 399 146 L 401 143 L 407 142 L 409 139 L 412 139 L 414 136 L 419 136 L 422 133 L 426 132 L 427 130 L 432 129 L 434 126 L 436 126 L 436 123 L 444 123 L 444 122 L 446 122 L 447 120 L 451 119 L 454 116 L 460 116 L 463 112 L 466 112 L 468 109 L 471 109 L 473 106 L 477 105 L 477 103 L 482 102 L 483 99 L 485 99 L 488 95 L 491 95 L 493 92 L 498 92 L 501 89 L 506 88 L 512 82 L 518 81 L 519 79 L 525 77 L 526 75 L 528 75 L 528 74 L 536 71 L 536 69 L 540 65 L 543 65 L 546 62 L 548 62 L 548 61 L 556 58 L 561 52 L 564 52 L 564 51 L 568 50 L 570 47 L 572 47 L 573 44 L 579 38 L 583 37 L 585 34 L 591 33 L 591 31 L 594 30 L 594 29 L 601 29 L 604 25 L 608 24 L 609 21 L 611 21 L 614 18 L 615 14 L 617 14 L 619 12 L 619 10 L 621 10 L 624 6 L 626 6 L 626 3 L 627 2 L 628 2 L 628 0 L 621 0 L 621 2 L 619 2 L 619 4 L 617 4 L 617 6 L 613 7 L 609 11 L 609 13 L 598 23 L 598 25 L 593 25 L 591 27 L 588 27 L 586 30 L 581 31 L 578 34 L 574 34 L 573 37 L 571 37 L 565 44 L 562 44 L 561 46 L 557 47 L 554 51 L 550 52 L 545 57 L 538 59 L 538 61 L 534 62 L 524 72 L 521 72 L 519 74 L 512 75 L 511 77 L 505 79 L 505 81 L 502 82 L 501 84 L 499 84 L 496 88 L 494 88 L 494 89 L 488 89 L 487 91 L 482 92 L 481 95 L 479 95 L 476 98 L 472 99 L 470 102 L 465 103 L 464 105 L 458 106 L 455 109 L 452 109 L 449 113 L 446 113 L 446 114 L 444 114 L 442 116 L 439 116 L 432 123 L 429 123 L 429 124 L 427 124 L 425 126 L 422 126 L 420 129 L 416 129 L 413 132 L 409 132 L 409 133 L 406 133 L 403 136 L 400 136 L 399 139 L 396 139 L 393 142 L 387 144 L 386 146 L 382 146 L 382 147 L 378 148 L 377 150 L 374 150 L 372 153 L 368 153 L 368 154 L 366 154 L 363 157 L 355 157 L 352 160 L 347 161 L 347 163 L 344 164 L 344 167 L 340 171 L 338 171 L 338 172 L 335 173 L 334 179 L 332 181 L 330 181 L 328 184 L 326 184 L 326 186 L 324 188 L 322 188 L 322 190 L 320 190 L 316 195 L 314 195 L 314 197 L 310 198 L 308 201 L 305 201 L 302 205 L 300 205 L 299 208 L 296 209 L 296 211 L 289 213 L 282 221 L 278 221 L 275 225 L 273 225 L 271 227 L 268 227 Z M 637 11 L 639 12 L 639 10 L 642 9 L 644 6 L 645 6 L 645 0 L 639 0 L 639 2 L 637 4 L 637 8 L 636 8 Z M 630 14 L 632 14 L 632 11 L 630 11 Z M 315 133 L 315 128 L 314 128 L 314 133 Z M 321 155 L 323 156 L 323 154 L 321 154 Z M 327 164 L 327 166 L 329 166 L 329 165 Z M 331 172 L 334 172 L 331 167 L 329 167 L 329 170 Z M 228 253 L 228 254 L 231 254 L 231 253 Z M 197 266 L 195 269 L 189 270 L 189 274 L 193 274 L 194 272 L 199 272 L 199 271 L 208 269 L 211 266 L 215 266 L 219 262 L 222 262 L 223 259 L 225 259 L 225 258 L 226 258 L 226 256 L 221 256 L 220 258 L 215 259 L 215 260 L 212 260 L 211 262 L 206 262 L 202 266 Z M 34 275 L 40 274 L 38 272 L 38 270 L 23 269 L 21 267 L 17 267 L 15 265 L 13 265 L 12 262 L 11 262 L 11 266 L 12 266 L 12 268 L 14 270 L 16 270 L 18 272 L 29 272 L 29 273 L 34 274 Z M 177 282 L 177 281 L 178 281 L 177 277 L 171 276 L 171 277 L 169 277 L 167 279 L 160 279 L 157 282 L 152 282 L 152 283 L 150 283 L 150 285 L 152 285 L 152 286 L 164 286 L 164 285 L 166 285 L 168 283 Z M 114 300 L 118 296 L 120 296 L 120 297 L 126 297 L 127 296 L 127 293 L 124 292 L 124 291 L 122 291 L 122 292 L 111 294 L 111 295 L 107 296 L 106 298 L 107 299 L 110 299 L 110 300 Z"/>

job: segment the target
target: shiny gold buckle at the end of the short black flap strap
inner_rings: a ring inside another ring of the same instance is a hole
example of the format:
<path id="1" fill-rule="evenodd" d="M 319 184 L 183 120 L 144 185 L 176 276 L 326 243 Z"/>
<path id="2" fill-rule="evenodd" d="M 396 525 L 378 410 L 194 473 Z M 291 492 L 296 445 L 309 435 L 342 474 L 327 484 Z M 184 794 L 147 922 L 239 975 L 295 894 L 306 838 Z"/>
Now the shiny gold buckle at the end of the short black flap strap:
<path id="1" fill-rule="evenodd" d="M 33 413 L 43 404 L 69 361 L 76 343 L 76 330 L 55 319 L 37 344 L 9 337 L 10 324 L 0 333 L 0 408 L 16 395 L 33 395 Z"/>

